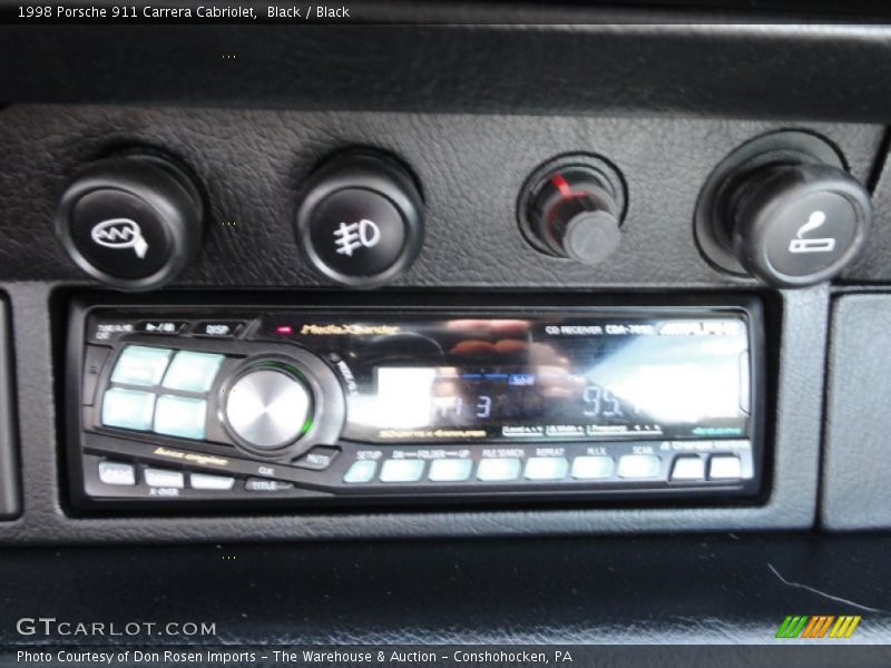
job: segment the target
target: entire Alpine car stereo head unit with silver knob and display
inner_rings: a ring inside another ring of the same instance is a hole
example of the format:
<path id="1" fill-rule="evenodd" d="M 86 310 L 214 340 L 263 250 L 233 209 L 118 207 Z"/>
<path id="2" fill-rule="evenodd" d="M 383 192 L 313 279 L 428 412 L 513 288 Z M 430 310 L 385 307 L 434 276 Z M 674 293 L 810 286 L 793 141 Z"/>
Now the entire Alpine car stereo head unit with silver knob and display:
<path id="1" fill-rule="evenodd" d="M 85 508 L 741 497 L 755 301 L 77 311 Z"/>

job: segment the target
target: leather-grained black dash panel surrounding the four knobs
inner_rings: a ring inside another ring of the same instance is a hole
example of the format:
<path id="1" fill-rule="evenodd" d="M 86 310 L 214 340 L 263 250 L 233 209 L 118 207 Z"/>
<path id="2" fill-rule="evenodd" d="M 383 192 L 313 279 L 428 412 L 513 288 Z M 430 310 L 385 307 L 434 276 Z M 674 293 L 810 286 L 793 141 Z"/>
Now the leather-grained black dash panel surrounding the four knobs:
<path id="1" fill-rule="evenodd" d="M 0 281 L 84 281 L 52 234 L 63 184 L 120 146 L 174 151 L 206 187 L 203 252 L 183 286 L 333 285 L 297 247 L 297 189 L 332 151 L 376 146 L 423 186 L 424 245 L 401 287 L 752 285 L 699 255 L 693 214 L 717 163 L 764 121 L 669 118 L 427 116 L 108 107 L 11 107 L 0 112 Z M 802 127 L 830 137 L 865 180 L 878 126 Z M 596 267 L 530 249 L 517 227 L 520 187 L 542 160 L 607 156 L 625 176 L 619 249 Z"/>

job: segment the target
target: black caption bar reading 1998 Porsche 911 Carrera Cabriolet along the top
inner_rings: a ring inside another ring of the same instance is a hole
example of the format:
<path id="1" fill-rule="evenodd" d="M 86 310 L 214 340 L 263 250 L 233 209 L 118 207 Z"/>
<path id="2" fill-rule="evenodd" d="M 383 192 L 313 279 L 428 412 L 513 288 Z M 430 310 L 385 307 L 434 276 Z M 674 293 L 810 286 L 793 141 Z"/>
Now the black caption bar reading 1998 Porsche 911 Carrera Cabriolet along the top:
<path id="1" fill-rule="evenodd" d="M 692 8 L 695 7 L 695 11 Z M 460 0 L 0 0 L 0 23 L 425 23 L 638 24 L 881 22 L 891 3 L 874 0 L 567 0 L 547 2 L 467 2 Z"/>

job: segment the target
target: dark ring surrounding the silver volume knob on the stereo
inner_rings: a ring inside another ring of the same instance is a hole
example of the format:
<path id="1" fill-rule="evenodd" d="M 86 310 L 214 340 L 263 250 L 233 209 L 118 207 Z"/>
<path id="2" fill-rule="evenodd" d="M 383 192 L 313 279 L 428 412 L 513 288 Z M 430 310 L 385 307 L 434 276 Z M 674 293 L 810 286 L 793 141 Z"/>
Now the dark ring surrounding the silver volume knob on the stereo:
<path id="1" fill-rule="evenodd" d="M 235 384 L 254 371 L 274 370 L 291 375 L 310 394 L 310 428 L 278 448 L 258 448 L 243 439 L 232 426 L 227 404 Z M 334 372 L 317 355 L 294 347 L 286 353 L 263 352 L 242 360 L 217 390 L 217 420 L 239 449 L 265 460 L 292 461 L 315 445 L 335 445 L 346 420 L 346 401 Z"/>

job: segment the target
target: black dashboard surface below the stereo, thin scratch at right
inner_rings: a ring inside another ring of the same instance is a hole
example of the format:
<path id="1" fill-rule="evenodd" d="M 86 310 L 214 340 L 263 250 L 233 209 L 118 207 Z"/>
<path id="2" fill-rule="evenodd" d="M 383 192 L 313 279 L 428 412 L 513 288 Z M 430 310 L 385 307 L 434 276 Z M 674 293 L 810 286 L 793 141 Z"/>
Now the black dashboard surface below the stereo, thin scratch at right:
<path id="1" fill-rule="evenodd" d="M 888 536 L 723 534 L 3 550 L 0 645 L 58 642 L 58 637 L 18 636 L 21 617 L 86 621 L 96 616 L 120 626 L 129 620 L 216 622 L 216 638 L 190 640 L 208 645 L 775 647 L 776 630 L 792 613 L 862 615 L 852 641 L 888 644 L 889 549 Z M 156 648 L 177 641 L 148 640 Z M 851 660 L 852 648 L 845 649 L 835 666 L 863 665 Z"/>

